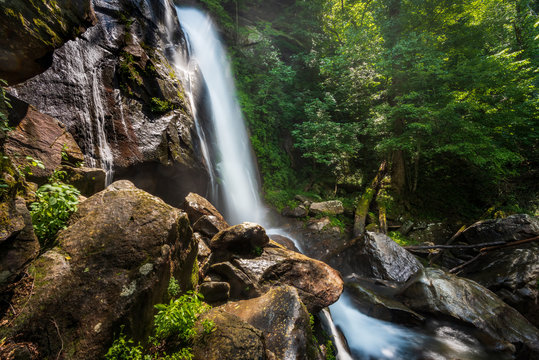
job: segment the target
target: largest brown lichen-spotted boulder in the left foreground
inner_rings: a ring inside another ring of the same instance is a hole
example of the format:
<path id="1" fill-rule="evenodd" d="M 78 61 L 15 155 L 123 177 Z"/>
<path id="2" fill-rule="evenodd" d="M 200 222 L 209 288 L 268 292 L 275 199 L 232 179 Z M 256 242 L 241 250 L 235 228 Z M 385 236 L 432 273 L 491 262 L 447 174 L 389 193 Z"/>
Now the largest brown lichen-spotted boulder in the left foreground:
<path id="1" fill-rule="evenodd" d="M 100 358 L 120 324 L 145 339 L 170 277 L 184 290 L 196 281 L 187 214 L 128 181 L 81 203 L 57 242 L 32 264 L 33 295 L 0 331 L 35 344 L 42 358 Z"/>

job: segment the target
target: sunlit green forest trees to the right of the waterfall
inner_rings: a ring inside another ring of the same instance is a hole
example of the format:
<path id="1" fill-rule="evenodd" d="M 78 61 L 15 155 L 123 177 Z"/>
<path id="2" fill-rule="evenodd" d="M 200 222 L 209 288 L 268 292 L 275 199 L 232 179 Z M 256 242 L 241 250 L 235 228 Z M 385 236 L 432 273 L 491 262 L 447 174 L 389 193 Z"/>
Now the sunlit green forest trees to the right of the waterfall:
<path id="1" fill-rule="evenodd" d="M 270 201 L 352 196 L 385 160 L 394 197 L 425 212 L 536 211 L 537 2 L 202 2 Z"/>

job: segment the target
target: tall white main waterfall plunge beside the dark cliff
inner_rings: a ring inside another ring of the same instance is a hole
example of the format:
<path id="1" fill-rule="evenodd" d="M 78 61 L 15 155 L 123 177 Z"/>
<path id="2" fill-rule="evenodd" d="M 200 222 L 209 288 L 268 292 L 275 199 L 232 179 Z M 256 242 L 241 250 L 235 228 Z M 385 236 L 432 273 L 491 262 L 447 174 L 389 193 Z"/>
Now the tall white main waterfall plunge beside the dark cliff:
<path id="1" fill-rule="evenodd" d="M 178 19 L 207 87 L 215 161 L 229 223 L 264 223 L 254 160 L 230 64 L 211 19 L 196 9 L 177 8 Z"/>

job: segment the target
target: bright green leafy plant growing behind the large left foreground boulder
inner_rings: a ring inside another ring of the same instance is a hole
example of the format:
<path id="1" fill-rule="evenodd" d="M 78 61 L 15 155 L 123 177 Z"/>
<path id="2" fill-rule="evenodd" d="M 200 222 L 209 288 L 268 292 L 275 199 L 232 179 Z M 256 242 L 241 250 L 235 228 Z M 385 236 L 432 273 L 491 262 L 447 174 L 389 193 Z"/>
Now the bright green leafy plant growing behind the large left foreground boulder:
<path id="1" fill-rule="evenodd" d="M 66 227 L 72 213 L 77 211 L 80 192 L 71 185 L 61 183 L 59 172 L 52 182 L 36 191 L 37 201 L 30 205 L 34 231 L 41 245 L 52 245 L 56 233 Z"/>

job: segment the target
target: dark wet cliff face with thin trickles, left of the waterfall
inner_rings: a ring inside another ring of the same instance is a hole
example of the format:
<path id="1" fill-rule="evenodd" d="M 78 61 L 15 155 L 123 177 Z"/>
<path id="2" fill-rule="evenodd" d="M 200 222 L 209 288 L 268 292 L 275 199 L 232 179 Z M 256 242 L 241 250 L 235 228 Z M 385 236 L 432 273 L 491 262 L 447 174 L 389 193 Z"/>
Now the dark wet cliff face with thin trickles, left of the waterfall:
<path id="1" fill-rule="evenodd" d="M 98 23 L 11 93 L 63 123 L 91 166 L 177 204 L 206 192 L 195 124 L 173 60 L 185 49 L 168 0 L 94 0 Z"/>

